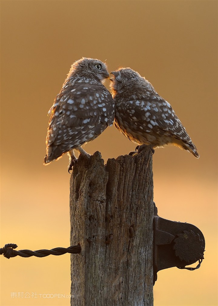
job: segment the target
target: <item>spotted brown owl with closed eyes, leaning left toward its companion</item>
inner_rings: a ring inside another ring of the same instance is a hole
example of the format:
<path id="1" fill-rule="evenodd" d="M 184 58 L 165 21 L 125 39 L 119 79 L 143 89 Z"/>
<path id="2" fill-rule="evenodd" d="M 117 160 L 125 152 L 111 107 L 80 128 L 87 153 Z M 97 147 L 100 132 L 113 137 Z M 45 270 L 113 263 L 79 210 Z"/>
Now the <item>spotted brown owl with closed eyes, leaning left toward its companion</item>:
<path id="1" fill-rule="evenodd" d="M 130 68 L 111 72 L 110 81 L 116 105 L 114 125 L 124 136 L 152 149 L 175 145 L 199 158 L 173 108 L 151 83 Z"/>

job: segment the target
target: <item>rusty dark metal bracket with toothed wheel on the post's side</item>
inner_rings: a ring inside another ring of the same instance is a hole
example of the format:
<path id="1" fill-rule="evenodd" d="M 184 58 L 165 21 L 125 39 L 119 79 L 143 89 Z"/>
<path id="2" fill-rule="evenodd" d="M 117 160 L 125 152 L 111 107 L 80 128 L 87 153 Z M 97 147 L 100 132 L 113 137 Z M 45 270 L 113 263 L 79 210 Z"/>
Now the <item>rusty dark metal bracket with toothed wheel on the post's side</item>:
<path id="1" fill-rule="evenodd" d="M 154 203 L 153 284 L 160 270 L 171 267 L 198 269 L 204 259 L 205 251 L 204 236 L 196 226 L 161 218 L 157 212 Z M 196 261 L 199 261 L 196 268 L 185 267 Z"/>

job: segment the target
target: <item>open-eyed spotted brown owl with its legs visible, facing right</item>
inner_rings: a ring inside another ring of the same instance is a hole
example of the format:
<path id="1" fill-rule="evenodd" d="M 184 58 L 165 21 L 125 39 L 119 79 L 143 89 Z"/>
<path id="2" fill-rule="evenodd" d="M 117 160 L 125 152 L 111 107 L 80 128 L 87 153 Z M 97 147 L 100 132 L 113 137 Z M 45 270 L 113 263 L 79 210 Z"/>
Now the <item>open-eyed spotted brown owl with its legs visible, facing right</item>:
<path id="1" fill-rule="evenodd" d="M 82 145 L 98 137 L 114 121 L 114 100 L 104 86 L 107 66 L 98 59 L 74 62 L 50 108 L 44 165 L 68 152 L 68 172 L 76 161 L 74 150 L 90 156 Z"/>

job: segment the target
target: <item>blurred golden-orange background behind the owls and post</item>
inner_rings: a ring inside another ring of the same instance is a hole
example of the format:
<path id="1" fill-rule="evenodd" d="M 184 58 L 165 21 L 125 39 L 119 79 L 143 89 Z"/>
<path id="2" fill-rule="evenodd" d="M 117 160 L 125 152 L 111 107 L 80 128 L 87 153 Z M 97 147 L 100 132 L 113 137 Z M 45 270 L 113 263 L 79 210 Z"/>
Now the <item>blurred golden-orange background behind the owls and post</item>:
<path id="1" fill-rule="evenodd" d="M 145 76 L 198 148 L 199 160 L 176 147 L 153 155 L 158 214 L 206 241 L 200 269 L 158 272 L 154 305 L 217 305 L 217 1 L 1 1 L 0 247 L 70 245 L 68 157 L 42 162 L 47 112 L 83 56 Z M 106 162 L 135 147 L 113 126 L 85 150 Z M 70 255 L 0 259 L 1 306 L 70 304 L 18 297 L 70 294 Z"/>

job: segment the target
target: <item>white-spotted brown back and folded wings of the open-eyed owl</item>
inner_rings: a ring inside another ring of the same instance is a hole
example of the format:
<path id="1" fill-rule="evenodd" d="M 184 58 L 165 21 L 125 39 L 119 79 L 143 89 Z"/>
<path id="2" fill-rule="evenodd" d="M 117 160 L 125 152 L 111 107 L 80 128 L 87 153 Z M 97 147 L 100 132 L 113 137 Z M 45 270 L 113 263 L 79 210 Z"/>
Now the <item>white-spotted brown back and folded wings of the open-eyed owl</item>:
<path id="1" fill-rule="evenodd" d="M 114 100 L 104 85 L 68 85 L 57 95 L 49 113 L 47 155 L 53 154 L 52 147 L 59 147 L 55 155 L 62 155 L 95 139 L 113 124 Z"/>

